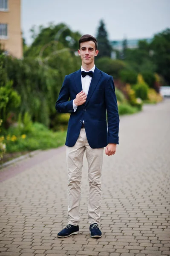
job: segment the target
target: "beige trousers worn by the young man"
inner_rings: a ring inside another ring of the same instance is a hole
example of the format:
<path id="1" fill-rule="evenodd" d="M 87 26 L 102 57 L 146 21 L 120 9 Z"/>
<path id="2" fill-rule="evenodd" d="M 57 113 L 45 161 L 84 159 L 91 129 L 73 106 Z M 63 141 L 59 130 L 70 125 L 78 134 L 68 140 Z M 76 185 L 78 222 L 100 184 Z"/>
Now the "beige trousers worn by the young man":
<path id="1" fill-rule="evenodd" d="M 101 169 L 103 149 L 91 148 L 87 141 L 86 131 L 81 129 L 77 142 L 73 147 L 66 147 L 66 162 L 69 176 L 68 184 L 68 216 L 69 224 L 77 226 L 80 220 L 81 170 L 83 156 L 86 151 L 89 178 L 89 224 L 100 221 L 101 208 Z"/>

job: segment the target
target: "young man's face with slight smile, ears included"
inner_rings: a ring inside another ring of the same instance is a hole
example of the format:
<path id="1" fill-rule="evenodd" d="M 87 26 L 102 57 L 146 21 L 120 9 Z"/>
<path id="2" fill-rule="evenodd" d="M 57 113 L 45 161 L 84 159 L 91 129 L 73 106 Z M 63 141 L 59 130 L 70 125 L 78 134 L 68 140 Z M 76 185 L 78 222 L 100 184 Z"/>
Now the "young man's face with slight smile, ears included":
<path id="1" fill-rule="evenodd" d="M 98 50 L 95 50 L 95 43 L 93 41 L 87 41 L 80 44 L 78 54 L 81 56 L 82 63 L 89 65 L 95 62 Z"/>

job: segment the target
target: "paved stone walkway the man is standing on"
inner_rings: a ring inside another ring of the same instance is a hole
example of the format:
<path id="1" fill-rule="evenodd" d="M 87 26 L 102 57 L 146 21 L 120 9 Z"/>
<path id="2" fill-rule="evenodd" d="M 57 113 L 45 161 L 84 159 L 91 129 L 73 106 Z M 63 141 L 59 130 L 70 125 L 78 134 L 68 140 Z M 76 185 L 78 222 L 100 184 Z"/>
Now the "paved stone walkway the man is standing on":
<path id="1" fill-rule="evenodd" d="M 67 224 L 65 147 L 0 177 L 0 256 L 170 255 L 170 99 L 121 117 L 117 152 L 104 155 L 101 239 L 89 236 L 86 159 L 80 233 L 66 239 L 57 238 Z"/>

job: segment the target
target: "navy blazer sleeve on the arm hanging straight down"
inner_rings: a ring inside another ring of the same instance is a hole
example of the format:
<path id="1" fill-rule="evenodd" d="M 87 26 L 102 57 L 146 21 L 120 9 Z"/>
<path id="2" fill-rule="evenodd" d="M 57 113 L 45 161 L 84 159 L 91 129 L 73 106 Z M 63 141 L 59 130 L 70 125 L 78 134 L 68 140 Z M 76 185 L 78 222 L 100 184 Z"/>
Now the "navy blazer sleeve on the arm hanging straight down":
<path id="1" fill-rule="evenodd" d="M 109 76 L 109 79 L 105 85 L 105 102 L 107 109 L 108 143 L 119 144 L 118 104 L 115 95 L 115 84 L 112 76 Z"/>

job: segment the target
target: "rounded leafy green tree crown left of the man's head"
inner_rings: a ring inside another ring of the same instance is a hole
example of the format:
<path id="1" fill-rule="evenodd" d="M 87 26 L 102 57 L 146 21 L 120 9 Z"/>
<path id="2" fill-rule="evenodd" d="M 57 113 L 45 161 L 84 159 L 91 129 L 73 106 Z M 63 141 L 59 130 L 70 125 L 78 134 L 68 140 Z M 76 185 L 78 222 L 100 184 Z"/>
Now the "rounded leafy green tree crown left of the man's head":
<path id="1" fill-rule="evenodd" d="M 24 57 L 37 57 L 53 55 L 57 50 L 67 49 L 70 52 L 78 50 L 78 40 L 81 37 L 79 32 L 73 32 L 69 27 L 60 23 L 49 24 L 48 27 L 32 26 L 32 45 L 24 52 Z"/>

